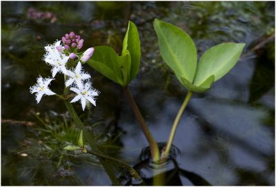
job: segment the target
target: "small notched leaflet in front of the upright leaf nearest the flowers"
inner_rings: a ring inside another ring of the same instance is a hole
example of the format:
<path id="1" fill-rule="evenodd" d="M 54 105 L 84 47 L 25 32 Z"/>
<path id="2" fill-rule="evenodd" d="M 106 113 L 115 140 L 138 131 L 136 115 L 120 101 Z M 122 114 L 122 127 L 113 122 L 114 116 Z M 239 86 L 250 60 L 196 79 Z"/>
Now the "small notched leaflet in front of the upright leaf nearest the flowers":
<path id="1" fill-rule="evenodd" d="M 128 52 L 126 51 L 126 54 L 124 56 L 118 56 L 118 64 L 121 68 L 121 80 L 123 80 L 124 84 L 123 87 L 128 85 L 130 83 L 130 64 L 131 64 L 131 57 Z"/>

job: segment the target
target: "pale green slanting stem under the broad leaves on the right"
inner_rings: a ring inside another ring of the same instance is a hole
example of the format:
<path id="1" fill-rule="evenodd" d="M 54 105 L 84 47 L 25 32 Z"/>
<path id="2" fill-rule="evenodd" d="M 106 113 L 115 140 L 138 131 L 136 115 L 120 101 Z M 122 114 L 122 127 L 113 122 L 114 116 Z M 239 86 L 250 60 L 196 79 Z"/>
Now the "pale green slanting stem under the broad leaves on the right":
<path id="1" fill-rule="evenodd" d="M 181 107 L 177 113 L 177 116 L 175 117 L 175 122 L 173 122 L 173 124 L 172 124 L 172 130 L 170 131 L 170 136 L 168 137 L 166 149 L 165 149 L 164 153 L 162 153 L 162 156 L 161 156 L 162 159 L 163 158 L 166 159 L 166 157 L 168 157 L 168 154 L 170 153 L 170 147 L 172 146 L 172 140 L 175 137 L 175 131 L 177 130 L 177 125 L 179 124 L 181 115 L 183 114 L 184 110 L 186 109 L 186 106 L 187 106 L 190 98 L 192 97 L 192 95 L 193 95 L 193 91 L 189 90 L 183 104 L 181 105 Z"/>

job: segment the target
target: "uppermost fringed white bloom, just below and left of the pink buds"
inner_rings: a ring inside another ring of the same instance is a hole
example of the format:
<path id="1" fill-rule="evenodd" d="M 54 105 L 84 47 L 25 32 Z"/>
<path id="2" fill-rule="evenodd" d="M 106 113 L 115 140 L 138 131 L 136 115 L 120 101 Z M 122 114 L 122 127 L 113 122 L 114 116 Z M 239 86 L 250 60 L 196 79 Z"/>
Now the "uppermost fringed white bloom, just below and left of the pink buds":
<path id="1" fill-rule="evenodd" d="M 46 63 L 52 65 L 52 77 L 54 78 L 57 72 L 62 72 L 63 74 L 68 75 L 69 72 L 66 69 L 66 63 L 69 59 L 69 56 L 60 53 L 57 49 L 52 49 L 51 47 L 48 49 L 48 52 L 44 56 L 44 61 Z"/>

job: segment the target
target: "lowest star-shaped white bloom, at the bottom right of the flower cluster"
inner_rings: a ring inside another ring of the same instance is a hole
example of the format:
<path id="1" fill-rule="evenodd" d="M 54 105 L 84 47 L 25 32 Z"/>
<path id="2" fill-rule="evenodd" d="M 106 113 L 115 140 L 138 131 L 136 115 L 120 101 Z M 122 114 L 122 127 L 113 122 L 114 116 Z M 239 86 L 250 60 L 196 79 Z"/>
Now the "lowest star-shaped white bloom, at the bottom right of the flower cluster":
<path id="1" fill-rule="evenodd" d="M 99 91 L 97 91 L 97 89 L 92 89 L 91 83 L 86 83 L 85 85 L 81 84 L 81 87 L 79 87 L 79 89 L 71 87 L 70 90 L 74 91 L 77 94 L 77 96 L 75 96 L 75 98 L 73 98 L 71 102 L 81 100 L 81 107 L 83 111 L 86 108 L 87 100 L 91 102 L 94 106 L 96 106 L 95 96 L 99 96 Z"/>

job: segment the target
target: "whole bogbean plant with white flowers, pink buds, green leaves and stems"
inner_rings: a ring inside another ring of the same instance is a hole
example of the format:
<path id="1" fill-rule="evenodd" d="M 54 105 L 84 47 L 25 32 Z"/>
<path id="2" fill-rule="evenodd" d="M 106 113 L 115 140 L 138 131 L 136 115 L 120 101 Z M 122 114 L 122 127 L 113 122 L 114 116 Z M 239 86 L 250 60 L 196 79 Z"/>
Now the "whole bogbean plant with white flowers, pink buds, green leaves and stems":
<path id="1" fill-rule="evenodd" d="M 123 161 L 101 153 L 99 148 L 97 148 L 97 144 L 92 141 L 86 131 L 74 107 L 72 107 L 71 102 L 77 102 L 78 100 L 81 102 L 83 111 L 87 104 L 92 103 L 96 106 L 95 97 L 99 95 L 99 91 L 92 88 L 90 74 L 83 72 L 81 65 L 87 63 L 90 67 L 103 74 L 103 76 L 121 85 L 132 107 L 132 111 L 135 113 L 135 117 L 148 140 L 152 161 L 158 163 L 168 159 L 177 125 L 193 92 L 208 91 L 213 83 L 222 78 L 235 66 L 245 46 L 244 43 L 222 43 L 215 45 L 207 50 L 201 56 L 199 62 L 197 62 L 195 43 L 186 32 L 175 25 L 159 21 L 158 19 L 155 19 L 153 25 L 157 33 L 161 57 L 172 69 L 172 72 L 175 73 L 181 85 L 188 89 L 188 94 L 172 124 L 172 130 L 166 147 L 162 148 L 161 153 L 157 142 L 150 133 L 128 89 L 128 84 L 139 72 L 141 58 L 139 32 L 131 21 L 128 22 L 128 30 L 124 37 L 121 55 L 118 55 L 109 46 L 90 47 L 85 52 L 79 52 L 83 46 L 83 39 L 74 32 L 66 34 L 62 37 L 61 41 L 56 41 L 53 45 L 47 45 L 43 61 L 52 66 L 52 78 L 42 78 L 39 76 L 37 84 L 30 87 L 31 93 L 36 93 L 37 103 L 43 95 L 55 95 L 64 100 L 74 122 L 81 129 L 78 146 L 68 145 L 64 149 L 68 151 L 79 150 L 82 153 L 90 153 L 99 157 L 99 161 L 113 184 L 118 184 L 118 181 L 112 173 L 110 166 L 106 164 L 106 159 L 124 166 L 136 179 L 139 178 L 139 175 Z M 64 91 L 62 95 L 55 94 L 55 92 L 48 88 L 57 73 L 64 75 Z M 73 94 L 70 94 L 69 91 L 73 91 Z M 83 137 L 90 145 L 90 150 L 84 146 Z"/>

